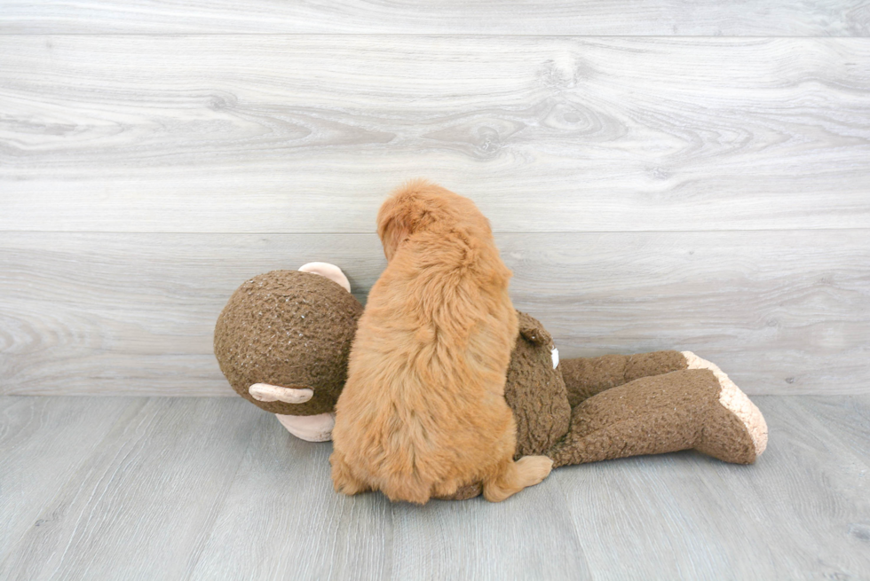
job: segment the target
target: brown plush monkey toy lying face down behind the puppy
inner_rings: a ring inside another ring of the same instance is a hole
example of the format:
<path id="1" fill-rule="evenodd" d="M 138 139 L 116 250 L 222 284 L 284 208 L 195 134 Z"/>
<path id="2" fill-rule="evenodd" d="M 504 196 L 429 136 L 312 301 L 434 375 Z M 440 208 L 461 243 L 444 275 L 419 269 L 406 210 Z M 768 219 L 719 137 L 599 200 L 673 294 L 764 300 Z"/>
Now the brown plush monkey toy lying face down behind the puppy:
<path id="1" fill-rule="evenodd" d="M 329 439 L 362 306 L 327 263 L 272 271 L 235 291 L 218 318 L 215 355 L 233 389 L 294 436 Z M 559 361 L 536 319 L 520 328 L 504 396 L 517 421 L 516 458 L 553 467 L 697 450 L 751 464 L 767 445 L 762 413 L 716 365 L 690 351 Z M 471 484 L 455 495 L 479 494 Z"/>

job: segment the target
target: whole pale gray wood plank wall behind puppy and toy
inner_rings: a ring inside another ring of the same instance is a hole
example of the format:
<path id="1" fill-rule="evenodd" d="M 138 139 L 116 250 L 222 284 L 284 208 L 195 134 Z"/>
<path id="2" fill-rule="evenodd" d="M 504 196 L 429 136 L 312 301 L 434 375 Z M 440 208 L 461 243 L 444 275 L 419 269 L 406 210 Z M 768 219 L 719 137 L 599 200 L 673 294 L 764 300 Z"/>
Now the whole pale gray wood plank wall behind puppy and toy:
<path id="1" fill-rule="evenodd" d="M 233 289 L 364 300 L 421 176 L 563 357 L 870 393 L 870 3 L 97 0 L 0 4 L 0 394 L 230 395 Z"/>

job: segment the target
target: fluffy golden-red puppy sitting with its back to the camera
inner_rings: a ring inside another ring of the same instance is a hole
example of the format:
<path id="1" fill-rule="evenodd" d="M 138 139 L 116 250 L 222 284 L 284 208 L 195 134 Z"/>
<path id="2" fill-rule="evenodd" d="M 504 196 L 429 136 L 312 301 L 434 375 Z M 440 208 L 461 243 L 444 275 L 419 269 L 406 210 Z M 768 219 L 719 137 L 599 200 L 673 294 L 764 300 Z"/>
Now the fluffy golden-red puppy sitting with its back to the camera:
<path id="1" fill-rule="evenodd" d="M 388 265 L 368 294 L 336 404 L 336 491 L 423 504 L 483 483 L 498 502 L 550 474 L 513 461 L 504 400 L 518 333 L 510 271 L 471 200 L 415 181 L 377 216 Z"/>

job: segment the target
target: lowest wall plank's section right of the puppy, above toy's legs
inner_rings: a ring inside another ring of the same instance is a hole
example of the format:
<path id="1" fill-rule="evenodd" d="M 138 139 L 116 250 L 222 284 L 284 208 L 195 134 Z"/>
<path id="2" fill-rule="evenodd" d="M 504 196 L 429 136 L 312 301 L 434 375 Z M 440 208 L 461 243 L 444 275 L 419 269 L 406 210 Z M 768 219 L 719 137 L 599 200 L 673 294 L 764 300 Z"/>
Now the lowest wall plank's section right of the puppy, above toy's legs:
<path id="1" fill-rule="evenodd" d="M 692 350 L 752 394 L 867 393 L 866 231 L 502 235 L 565 357 Z"/>

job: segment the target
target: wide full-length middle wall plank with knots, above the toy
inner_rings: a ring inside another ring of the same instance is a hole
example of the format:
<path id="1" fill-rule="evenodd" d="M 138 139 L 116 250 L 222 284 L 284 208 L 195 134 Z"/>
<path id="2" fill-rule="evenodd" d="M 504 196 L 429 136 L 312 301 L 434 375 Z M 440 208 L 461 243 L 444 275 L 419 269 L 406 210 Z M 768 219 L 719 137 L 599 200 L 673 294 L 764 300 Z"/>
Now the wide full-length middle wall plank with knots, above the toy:
<path id="1" fill-rule="evenodd" d="M 0 230 L 870 227 L 870 39 L 0 36 Z"/>

